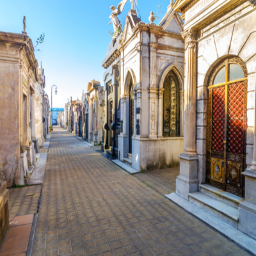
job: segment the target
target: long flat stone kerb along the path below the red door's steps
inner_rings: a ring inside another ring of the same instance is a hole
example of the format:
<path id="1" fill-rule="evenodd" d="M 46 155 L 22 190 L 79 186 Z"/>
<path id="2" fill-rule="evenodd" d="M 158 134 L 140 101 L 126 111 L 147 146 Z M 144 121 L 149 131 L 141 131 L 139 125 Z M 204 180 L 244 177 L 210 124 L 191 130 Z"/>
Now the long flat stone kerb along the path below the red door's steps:
<path id="1" fill-rule="evenodd" d="M 171 200 L 173 203 L 179 205 L 182 209 L 184 209 L 184 211 L 191 213 L 193 216 L 196 216 L 198 219 L 204 221 L 204 223 L 211 226 L 222 235 L 228 237 L 228 239 L 238 244 L 247 252 L 256 255 L 256 241 L 252 237 L 249 237 L 246 234 L 237 230 L 236 228 L 231 227 L 227 223 L 214 217 L 208 212 L 205 212 L 203 209 L 197 207 L 191 202 L 188 202 L 184 198 L 176 195 L 175 193 L 165 195 L 165 197 Z"/>

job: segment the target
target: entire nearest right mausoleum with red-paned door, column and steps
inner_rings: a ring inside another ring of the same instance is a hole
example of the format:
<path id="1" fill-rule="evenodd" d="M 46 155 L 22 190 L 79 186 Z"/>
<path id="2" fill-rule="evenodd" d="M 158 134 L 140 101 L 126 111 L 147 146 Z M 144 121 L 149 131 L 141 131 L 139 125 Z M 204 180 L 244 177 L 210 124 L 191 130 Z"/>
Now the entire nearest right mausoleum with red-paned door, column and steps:
<path id="1" fill-rule="evenodd" d="M 233 234 L 238 229 L 254 239 L 255 5 L 230 0 L 173 5 L 185 20 L 184 152 L 177 195 L 168 195 L 183 207 L 188 200 L 209 212 L 210 225 L 218 218 Z"/>

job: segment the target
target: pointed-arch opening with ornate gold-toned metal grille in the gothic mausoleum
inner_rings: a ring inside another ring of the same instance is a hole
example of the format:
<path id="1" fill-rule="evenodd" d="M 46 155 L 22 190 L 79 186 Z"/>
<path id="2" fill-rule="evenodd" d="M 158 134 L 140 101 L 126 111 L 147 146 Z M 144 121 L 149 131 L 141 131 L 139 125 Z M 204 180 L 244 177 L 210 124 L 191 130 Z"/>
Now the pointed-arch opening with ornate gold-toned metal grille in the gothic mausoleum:
<path id="1" fill-rule="evenodd" d="M 163 136 L 180 136 L 180 86 L 173 71 L 164 79 Z"/>

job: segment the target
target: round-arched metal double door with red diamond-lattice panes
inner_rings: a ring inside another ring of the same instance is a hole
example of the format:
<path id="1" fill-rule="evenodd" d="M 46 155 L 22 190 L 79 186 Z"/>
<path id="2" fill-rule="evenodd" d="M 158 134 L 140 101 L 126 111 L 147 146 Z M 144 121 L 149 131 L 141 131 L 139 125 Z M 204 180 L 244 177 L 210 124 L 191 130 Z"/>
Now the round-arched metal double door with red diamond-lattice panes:
<path id="1" fill-rule="evenodd" d="M 243 60 L 222 61 L 213 70 L 207 89 L 206 182 L 244 196 L 247 69 Z"/>

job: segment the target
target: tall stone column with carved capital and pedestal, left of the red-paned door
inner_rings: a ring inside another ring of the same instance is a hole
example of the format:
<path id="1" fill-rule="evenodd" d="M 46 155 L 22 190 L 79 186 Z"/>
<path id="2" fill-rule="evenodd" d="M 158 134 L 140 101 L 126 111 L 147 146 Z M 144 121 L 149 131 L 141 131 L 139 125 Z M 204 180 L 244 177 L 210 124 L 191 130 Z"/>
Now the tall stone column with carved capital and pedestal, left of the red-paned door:
<path id="1" fill-rule="evenodd" d="M 176 193 L 188 200 L 188 194 L 198 191 L 198 157 L 196 156 L 196 31 L 182 33 L 185 40 L 184 81 L 184 152 L 180 154 L 180 175 Z"/>

